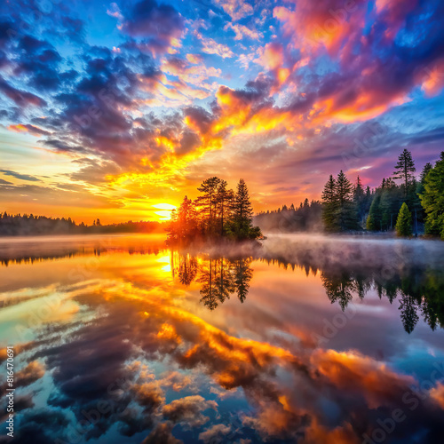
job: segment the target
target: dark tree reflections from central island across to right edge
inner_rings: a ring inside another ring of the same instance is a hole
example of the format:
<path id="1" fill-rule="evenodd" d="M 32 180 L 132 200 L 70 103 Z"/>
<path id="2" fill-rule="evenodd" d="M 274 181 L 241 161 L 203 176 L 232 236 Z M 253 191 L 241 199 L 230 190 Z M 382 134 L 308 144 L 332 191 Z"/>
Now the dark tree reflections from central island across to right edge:
<path id="1" fill-rule="evenodd" d="M 254 273 L 251 268 L 253 260 L 253 257 L 229 258 L 209 254 L 197 257 L 172 252 L 171 270 L 173 277 L 176 275 L 183 285 L 189 286 L 193 281 L 200 283 L 202 305 L 214 310 L 234 294 L 241 302 L 245 300 Z M 376 290 L 379 298 L 386 297 L 390 304 L 399 299 L 400 319 L 408 333 L 415 329 L 419 314 L 433 330 L 444 326 L 444 273 L 436 267 L 418 268 L 406 264 L 398 274 L 385 275 L 381 266 L 364 269 L 359 263 L 318 268 L 306 260 L 304 263 L 289 262 L 261 256 L 256 260 L 293 270 L 299 268 L 307 275 L 320 274 L 330 302 L 337 303 L 343 311 L 353 297 L 363 299 L 369 291 Z"/>

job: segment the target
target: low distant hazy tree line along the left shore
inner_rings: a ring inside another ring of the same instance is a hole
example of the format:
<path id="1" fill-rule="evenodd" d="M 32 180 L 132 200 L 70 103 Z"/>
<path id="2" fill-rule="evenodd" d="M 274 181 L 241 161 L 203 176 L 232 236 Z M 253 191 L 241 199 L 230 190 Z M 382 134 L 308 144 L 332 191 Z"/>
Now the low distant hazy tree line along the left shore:
<path id="1" fill-rule="evenodd" d="M 140 221 L 102 225 L 99 218 L 92 225 L 76 224 L 72 218 L 47 218 L 33 214 L 0 213 L 0 236 L 26 236 L 40 234 L 107 234 L 151 233 L 162 229 L 159 222 Z"/>

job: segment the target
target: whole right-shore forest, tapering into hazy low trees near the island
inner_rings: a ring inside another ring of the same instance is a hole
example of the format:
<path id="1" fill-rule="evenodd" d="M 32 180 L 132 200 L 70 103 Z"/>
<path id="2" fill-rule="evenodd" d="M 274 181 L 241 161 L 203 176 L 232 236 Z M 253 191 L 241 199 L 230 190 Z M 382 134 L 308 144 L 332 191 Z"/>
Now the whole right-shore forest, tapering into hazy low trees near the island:
<path id="1" fill-rule="evenodd" d="M 305 199 L 297 208 L 283 205 L 258 213 L 254 220 L 268 231 L 395 231 L 444 239 L 444 152 L 435 165 L 426 163 L 417 179 L 412 155 L 404 149 L 392 176 L 375 189 L 364 188 L 359 176 L 353 184 L 341 170 L 336 178 L 329 176 L 321 201 Z"/>

